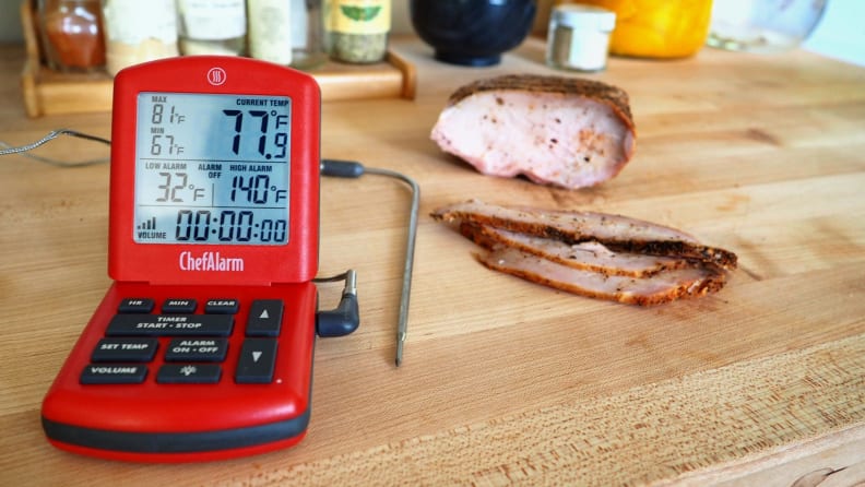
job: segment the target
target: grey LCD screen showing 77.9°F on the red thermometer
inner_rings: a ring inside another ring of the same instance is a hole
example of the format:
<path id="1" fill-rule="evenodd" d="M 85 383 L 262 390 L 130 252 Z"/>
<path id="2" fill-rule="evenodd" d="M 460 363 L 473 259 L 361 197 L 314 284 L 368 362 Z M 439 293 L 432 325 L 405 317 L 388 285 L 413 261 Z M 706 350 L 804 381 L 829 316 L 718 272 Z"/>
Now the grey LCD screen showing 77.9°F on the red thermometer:
<path id="1" fill-rule="evenodd" d="M 292 100 L 138 95 L 138 243 L 285 245 Z"/>

